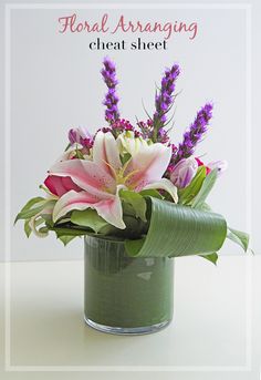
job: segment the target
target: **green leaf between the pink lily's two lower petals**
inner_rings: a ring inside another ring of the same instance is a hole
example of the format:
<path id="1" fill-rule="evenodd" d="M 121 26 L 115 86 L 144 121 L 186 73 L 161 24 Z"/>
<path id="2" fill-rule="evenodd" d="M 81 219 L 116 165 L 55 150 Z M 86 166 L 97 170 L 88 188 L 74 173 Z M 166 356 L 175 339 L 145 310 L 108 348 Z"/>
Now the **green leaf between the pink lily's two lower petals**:
<path id="1" fill-rule="evenodd" d="M 93 229 L 96 234 L 103 227 L 108 225 L 108 223 L 104 220 L 95 209 L 92 208 L 72 212 L 71 220 L 77 226 L 88 227 Z"/>

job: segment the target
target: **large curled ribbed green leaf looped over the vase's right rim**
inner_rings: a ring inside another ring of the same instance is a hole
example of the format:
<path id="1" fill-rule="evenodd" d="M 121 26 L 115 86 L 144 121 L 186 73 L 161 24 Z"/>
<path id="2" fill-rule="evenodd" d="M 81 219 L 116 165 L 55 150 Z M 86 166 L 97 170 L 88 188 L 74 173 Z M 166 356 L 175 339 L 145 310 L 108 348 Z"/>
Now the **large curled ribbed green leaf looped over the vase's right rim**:
<path id="1" fill-rule="evenodd" d="M 130 256 L 177 257 L 218 251 L 227 235 L 225 218 L 215 213 L 148 197 L 150 223 L 145 238 L 125 242 Z"/>

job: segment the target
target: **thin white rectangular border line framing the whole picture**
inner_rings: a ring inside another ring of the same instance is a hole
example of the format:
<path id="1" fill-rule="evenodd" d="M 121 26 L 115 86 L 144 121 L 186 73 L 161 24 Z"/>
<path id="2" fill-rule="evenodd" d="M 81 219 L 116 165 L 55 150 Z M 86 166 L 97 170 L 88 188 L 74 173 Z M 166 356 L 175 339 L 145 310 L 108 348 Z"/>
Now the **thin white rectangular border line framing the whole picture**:
<path id="1" fill-rule="evenodd" d="M 252 74 L 251 74 L 251 10 L 250 3 L 176 3 L 176 4 L 121 4 L 121 3 L 6 3 L 6 24 L 4 24 L 4 66 L 6 66 L 6 82 L 4 82 L 4 97 L 6 97 L 6 109 L 4 109 L 4 195 L 6 195 L 6 223 L 4 223 L 4 248 L 6 248 L 6 278 L 4 278 L 4 369 L 6 371 L 100 371 L 100 372 L 111 372 L 111 371 L 155 371 L 155 372 L 246 372 L 252 369 L 252 257 L 247 256 L 246 265 L 246 278 L 247 278 L 247 294 L 246 294 L 246 336 L 247 336 L 247 356 L 246 366 L 12 366 L 11 364 L 11 322 L 10 322 L 10 275 L 11 275 L 11 11 L 18 9 L 234 9 L 246 11 L 246 110 L 247 110 L 247 166 L 249 171 L 247 172 L 247 228 L 251 233 L 251 146 L 252 146 L 252 133 L 251 133 L 251 94 L 252 94 Z"/>

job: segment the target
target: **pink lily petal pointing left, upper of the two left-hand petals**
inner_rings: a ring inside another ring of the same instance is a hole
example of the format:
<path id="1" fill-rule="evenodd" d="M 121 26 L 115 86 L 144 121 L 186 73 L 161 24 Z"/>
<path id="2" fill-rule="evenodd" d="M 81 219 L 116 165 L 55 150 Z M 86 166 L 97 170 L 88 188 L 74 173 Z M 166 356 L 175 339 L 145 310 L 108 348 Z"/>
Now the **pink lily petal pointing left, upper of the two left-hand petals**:
<path id="1" fill-rule="evenodd" d="M 103 167 L 91 161 L 63 161 L 54 164 L 50 170 L 50 174 L 71 177 L 77 186 L 97 197 L 109 198 L 116 192 L 115 179 Z"/>

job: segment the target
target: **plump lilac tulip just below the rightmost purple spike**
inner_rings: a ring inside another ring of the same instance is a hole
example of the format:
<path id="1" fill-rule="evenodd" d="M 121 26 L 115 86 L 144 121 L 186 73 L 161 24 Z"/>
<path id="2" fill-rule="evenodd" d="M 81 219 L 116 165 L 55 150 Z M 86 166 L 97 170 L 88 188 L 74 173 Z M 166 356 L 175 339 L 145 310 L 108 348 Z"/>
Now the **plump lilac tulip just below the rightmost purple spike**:
<path id="1" fill-rule="evenodd" d="M 178 188 L 187 187 L 195 177 L 198 163 L 194 157 L 182 158 L 173 167 L 170 181 Z"/>

